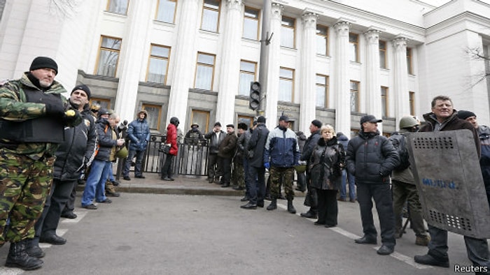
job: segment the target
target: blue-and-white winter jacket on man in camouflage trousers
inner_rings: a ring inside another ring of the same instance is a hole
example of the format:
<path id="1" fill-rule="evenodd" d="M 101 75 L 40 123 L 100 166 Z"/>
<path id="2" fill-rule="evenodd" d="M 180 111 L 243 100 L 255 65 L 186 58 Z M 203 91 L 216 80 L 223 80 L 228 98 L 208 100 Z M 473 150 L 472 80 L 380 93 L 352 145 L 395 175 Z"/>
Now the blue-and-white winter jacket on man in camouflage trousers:
<path id="1" fill-rule="evenodd" d="M 280 168 L 290 168 L 300 161 L 300 146 L 296 134 L 289 128 L 276 127 L 267 135 L 264 163 Z"/>

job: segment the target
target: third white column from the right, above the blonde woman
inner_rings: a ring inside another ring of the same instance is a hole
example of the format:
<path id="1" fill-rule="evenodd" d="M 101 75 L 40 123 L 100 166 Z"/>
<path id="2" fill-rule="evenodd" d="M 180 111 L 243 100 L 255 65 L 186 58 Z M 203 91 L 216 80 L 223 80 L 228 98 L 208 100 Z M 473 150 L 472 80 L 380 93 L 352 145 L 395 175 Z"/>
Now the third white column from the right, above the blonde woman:
<path id="1" fill-rule="evenodd" d="M 335 40 L 335 131 L 346 136 L 351 133 L 351 87 L 349 78 L 349 22 L 338 22 L 334 26 Z"/>

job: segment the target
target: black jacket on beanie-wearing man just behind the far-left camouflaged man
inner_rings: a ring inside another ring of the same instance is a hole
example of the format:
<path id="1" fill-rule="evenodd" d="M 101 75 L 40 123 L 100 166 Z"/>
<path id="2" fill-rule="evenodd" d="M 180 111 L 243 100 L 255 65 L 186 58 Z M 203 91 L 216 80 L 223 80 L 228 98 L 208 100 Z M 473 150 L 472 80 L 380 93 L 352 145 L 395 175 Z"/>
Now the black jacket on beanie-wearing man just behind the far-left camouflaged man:
<path id="1" fill-rule="evenodd" d="M 97 147 L 97 131 L 94 117 L 88 105 L 80 113 L 82 123 L 75 127 L 64 128 L 64 142 L 59 144 L 55 153 L 55 171 L 53 177 L 61 181 L 75 180 L 85 166 L 90 165 Z"/>

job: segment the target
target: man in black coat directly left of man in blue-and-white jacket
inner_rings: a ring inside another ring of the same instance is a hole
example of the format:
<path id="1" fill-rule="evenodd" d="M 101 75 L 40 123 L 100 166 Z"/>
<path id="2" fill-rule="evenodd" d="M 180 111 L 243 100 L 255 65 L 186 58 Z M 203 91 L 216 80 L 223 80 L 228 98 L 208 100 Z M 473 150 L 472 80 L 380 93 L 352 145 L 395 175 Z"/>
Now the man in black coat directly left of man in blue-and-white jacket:
<path id="1" fill-rule="evenodd" d="M 246 205 L 241 205 L 243 209 L 257 209 L 264 207 L 265 197 L 265 167 L 264 149 L 269 130 L 265 126 L 265 117 L 258 117 L 257 127 L 253 130 L 252 136 L 248 141 L 248 151 L 253 151 L 253 156 L 248 155 L 248 186 L 250 186 L 250 200 Z M 255 179 L 258 179 L 256 181 Z"/>

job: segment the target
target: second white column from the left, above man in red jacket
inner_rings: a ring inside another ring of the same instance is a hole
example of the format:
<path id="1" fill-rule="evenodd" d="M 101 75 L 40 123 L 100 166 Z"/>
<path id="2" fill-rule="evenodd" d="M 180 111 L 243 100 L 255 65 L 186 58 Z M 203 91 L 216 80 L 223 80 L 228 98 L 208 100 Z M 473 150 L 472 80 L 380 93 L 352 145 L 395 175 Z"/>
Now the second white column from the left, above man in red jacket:
<path id="1" fill-rule="evenodd" d="M 177 35 L 174 55 L 174 74 L 170 83 L 169 107 L 167 109 L 168 124 L 171 117 L 178 117 L 181 128 L 186 127 L 189 88 L 192 87 L 195 70 L 195 38 L 197 36 L 197 17 L 199 17 L 199 0 L 179 1 L 181 6 L 181 22 Z"/>

